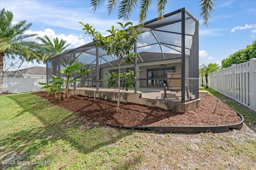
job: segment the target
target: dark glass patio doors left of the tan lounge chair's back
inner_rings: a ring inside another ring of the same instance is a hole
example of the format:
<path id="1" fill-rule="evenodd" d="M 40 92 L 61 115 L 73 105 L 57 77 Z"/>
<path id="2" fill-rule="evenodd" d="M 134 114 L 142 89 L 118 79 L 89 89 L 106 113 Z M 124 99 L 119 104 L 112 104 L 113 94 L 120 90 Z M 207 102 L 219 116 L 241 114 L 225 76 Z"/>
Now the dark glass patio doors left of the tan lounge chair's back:
<path id="1" fill-rule="evenodd" d="M 167 72 L 174 72 L 175 68 L 148 69 L 148 86 L 162 86 L 167 78 Z"/>

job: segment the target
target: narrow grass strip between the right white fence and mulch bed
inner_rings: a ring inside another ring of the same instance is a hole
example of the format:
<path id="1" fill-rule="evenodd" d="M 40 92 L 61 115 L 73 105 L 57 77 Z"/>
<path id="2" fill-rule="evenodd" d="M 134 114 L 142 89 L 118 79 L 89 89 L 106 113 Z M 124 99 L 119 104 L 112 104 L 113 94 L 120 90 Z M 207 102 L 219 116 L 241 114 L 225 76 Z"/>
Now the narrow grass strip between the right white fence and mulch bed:
<path id="1" fill-rule="evenodd" d="M 256 113 L 255 111 L 250 110 L 248 107 L 243 106 L 242 104 L 228 98 L 227 96 L 224 96 L 223 94 L 220 94 L 219 92 L 216 92 L 215 90 L 212 90 L 211 88 L 205 88 L 205 86 L 200 86 L 199 90 L 204 90 L 213 96 L 220 99 L 224 104 L 228 105 L 232 109 L 235 109 L 244 117 L 244 122 L 246 125 L 248 125 L 251 129 L 256 131 Z"/>

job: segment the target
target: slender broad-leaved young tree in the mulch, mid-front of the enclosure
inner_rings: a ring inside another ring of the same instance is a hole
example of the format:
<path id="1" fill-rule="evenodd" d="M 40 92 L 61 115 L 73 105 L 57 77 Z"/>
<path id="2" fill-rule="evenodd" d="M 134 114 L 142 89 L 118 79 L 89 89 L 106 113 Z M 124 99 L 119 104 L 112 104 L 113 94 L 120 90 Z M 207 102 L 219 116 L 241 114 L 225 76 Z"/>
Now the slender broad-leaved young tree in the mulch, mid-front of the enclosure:
<path id="1" fill-rule="evenodd" d="M 136 31 L 137 27 L 133 27 L 131 22 L 125 24 L 118 22 L 122 29 L 114 29 L 114 26 L 112 26 L 111 30 L 107 30 L 111 35 L 108 37 L 104 37 L 101 33 L 96 32 L 95 28 L 92 29 L 92 26 L 90 26 L 88 23 L 79 23 L 84 26 L 83 30 L 85 30 L 85 32 L 88 33 L 91 37 L 93 37 L 95 45 L 105 50 L 107 54 L 110 55 L 118 65 L 118 76 L 112 73 L 112 78 L 114 78 L 114 82 L 118 79 L 118 106 L 116 111 L 118 112 L 120 106 L 120 77 L 122 76 L 121 64 L 123 60 L 125 64 L 132 64 L 134 62 L 134 59 L 136 58 L 135 53 L 130 53 L 130 51 L 136 44 L 138 39 L 137 34 L 140 32 Z M 129 27 L 125 30 L 125 27 L 127 26 Z M 109 75 L 109 80 L 110 77 L 111 76 Z M 114 82 L 112 81 L 111 83 L 115 84 Z M 112 85 L 108 84 L 108 87 L 110 86 Z"/>

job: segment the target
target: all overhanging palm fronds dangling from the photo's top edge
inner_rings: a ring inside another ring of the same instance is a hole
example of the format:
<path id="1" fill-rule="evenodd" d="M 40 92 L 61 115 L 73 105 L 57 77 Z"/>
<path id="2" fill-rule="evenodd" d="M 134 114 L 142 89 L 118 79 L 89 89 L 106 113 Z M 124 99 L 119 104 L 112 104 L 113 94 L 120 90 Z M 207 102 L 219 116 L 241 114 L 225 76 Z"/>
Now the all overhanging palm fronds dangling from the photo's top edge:
<path id="1" fill-rule="evenodd" d="M 200 16 L 203 18 L 204 25 L 207 26 L 208 20 L 210 18 L 210 12 L 212 12 L 215 0 L 200 0 Z M 104 4 L 105 0 L 91 0 L 92 9 L 95 11 L 97 7 Z M 163 19 L 164 9 L 168 0 L 157 0 L 157 14 L 158 20 Z M 108 14 L 111 14 L 113 10 L 118 6 L 118 19 L 124 18 L 124 21 L 128 21 L 133 8 L 137 6 L 137 0 L 108 0 Z M 151 6 L 152 0 L 140 0 L 140 14 L 139 23 L 143 25 L 146 21 L 146 14 L 148 8 Z"/>

